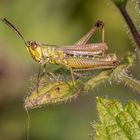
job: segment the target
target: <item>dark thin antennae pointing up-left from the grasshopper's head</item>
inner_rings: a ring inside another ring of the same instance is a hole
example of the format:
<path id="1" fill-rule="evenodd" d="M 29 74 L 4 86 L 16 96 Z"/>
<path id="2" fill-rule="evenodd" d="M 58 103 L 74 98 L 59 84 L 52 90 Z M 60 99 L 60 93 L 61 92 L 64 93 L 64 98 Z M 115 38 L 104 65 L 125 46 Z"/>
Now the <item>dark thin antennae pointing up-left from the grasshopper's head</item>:
<path id="1" fill-rule="evenodd" d="M 10 23 L 6 18 L 1 19 L 2 22 L 4 22 L 9 28 L 11 28 L 25 43 L 26 46 L 28 46 L 27 41 L 24 39 L 24 37 L 21 35 L 21 33 L 16 29 L 16 27 Z"/>

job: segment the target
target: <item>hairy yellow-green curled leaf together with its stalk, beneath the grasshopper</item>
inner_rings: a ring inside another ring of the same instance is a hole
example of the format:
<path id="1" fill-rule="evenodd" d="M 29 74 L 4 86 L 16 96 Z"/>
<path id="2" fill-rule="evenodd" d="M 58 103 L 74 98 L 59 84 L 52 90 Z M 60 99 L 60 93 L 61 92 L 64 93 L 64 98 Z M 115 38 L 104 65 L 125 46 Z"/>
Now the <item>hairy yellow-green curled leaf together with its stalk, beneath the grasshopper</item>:
<path id="1" fill-rule="evenodd" d="M 96 76 L 82 79 L 75 79 L 75 86 L 72 80 L 65 81 L 62 78 L 55 78 L 50 80 L 49 76 L 45 75 L 41 78 L 39 88 L 37 91 L 36 80 L 37 76 L 31 79 L 32 88 L 25 98 L 25 109 L 34 109 L 48 104 L 56 104 L 60 102 L 67 102 L 76 98 L 79 93 L 87 92 L 94 89 L 108 79 L 108 72 L 102 71 Z M 80 93 L 80 94 L 81 94 Z"/>

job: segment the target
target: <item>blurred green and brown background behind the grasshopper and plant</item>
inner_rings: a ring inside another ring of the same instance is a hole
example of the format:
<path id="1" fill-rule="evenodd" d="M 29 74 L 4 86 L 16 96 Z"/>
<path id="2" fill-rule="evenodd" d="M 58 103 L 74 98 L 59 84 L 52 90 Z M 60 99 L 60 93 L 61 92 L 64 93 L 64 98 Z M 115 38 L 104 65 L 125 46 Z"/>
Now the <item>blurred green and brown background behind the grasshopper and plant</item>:
<path id="1" fill-rule="evenodd" d="M 127 10 L 138 26 L 140 18 L 135 1 L 129 1 Z M 121 59 L 127 51 L 136 48 L 129 39 L 131 35 L 123 18 L 110 0 L 0 0 L 0 11 L 0 17 L 9 19 L 29 40 L 74 44 L 100 19 L 105 23 L 108 52 L 115 52 Z M 97 32 L 90 42 L 100 40 L 100 32 Z M 137 61 L 131 69 L 136 79 L 140 79 L 139 66 Z M 27 114 L 23 104 L 29 78 L 37 71 L 38 64 L 27 53 L 22 40 L 1 22 L 0 140 L 26 139 Z M 31 111 L 29 139 L 90 139 L 93 133 L 90 122 L 98 120 L 96 96 L 140 102 L 140 95 L 124 85 L 104 84 L 71 102 Z"/>

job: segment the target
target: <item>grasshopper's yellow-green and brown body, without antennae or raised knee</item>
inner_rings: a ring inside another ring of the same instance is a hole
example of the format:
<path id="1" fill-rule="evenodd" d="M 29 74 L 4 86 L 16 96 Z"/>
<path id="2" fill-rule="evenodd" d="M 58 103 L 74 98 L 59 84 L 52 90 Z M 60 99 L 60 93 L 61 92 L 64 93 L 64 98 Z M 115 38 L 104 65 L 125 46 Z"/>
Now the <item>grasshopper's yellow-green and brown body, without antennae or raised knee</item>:
<path id="1" fill-rule="evenodd" d="M 57 46 L 40 46 L 40 44 L 35 44 L 32 42 L 32 45 L 37 45 L 36 49 L 28 49 L 31 53 L 33 59 L 39 62 L 41 65 L 46 63 L 62 65 L 67 68 L 72 68 L 75 70 L 84 70 L 84 69 L 103 69 L 103 68 L 113 68 L 118 64 L 118 60 L 115 54 L 108 55 L 96 55 L 102 50 L 94 50 L 93 44 L 88 44 L 85 46 L 83 54 L 79 53 L 81 50 L 80 46 L 76 46 L 74 49 L 70 47 L 57 47 Z M 95 44 L 94 44 L 95 45 Z M 96 44 L 102 47 L 102 44 Z M 89 49 L 90 47 L 90 49 Z M 91 48 L 92 47 L 92 48 Z M 67 49 L 68 48 L 68 49 Z M 75 51 L 75 53 L 69 53 L 69 51 Z M 77 51 L 78 50 L 78 51 Z M 89 51 L 90 50 L 90 51 Z M 93 50 L 93 51 L 92 51 Z M 86 52 L 87 51 L 87 52 Z M 88 51 L 90 55 L 88 54 Z M 78 52 L 78 53 L 77 53 Z"/>

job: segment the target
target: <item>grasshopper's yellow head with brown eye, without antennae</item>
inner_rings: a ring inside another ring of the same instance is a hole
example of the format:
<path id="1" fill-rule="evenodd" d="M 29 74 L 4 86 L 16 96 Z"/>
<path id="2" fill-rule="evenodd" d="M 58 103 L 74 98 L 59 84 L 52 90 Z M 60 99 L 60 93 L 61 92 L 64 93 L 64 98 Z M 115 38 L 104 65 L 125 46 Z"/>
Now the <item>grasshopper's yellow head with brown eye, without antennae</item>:
<path id="1" fill-rule="evenodd" d="M 41 60 L 42 52 L 39 43 L 35 41 L 27 41 L 26 48 L 35 61 L 39 62 Z"/>

